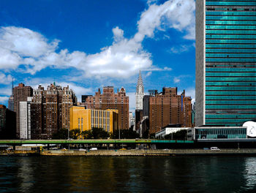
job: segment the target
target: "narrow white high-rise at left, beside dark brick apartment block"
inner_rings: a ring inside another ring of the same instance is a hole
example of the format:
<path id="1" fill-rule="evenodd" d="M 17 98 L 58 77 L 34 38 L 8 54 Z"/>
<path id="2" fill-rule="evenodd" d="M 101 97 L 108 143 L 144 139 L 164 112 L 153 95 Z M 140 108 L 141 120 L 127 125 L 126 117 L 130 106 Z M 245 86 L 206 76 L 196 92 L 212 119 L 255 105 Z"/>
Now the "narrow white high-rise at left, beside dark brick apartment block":
<path id="1" fill-rule="evenodd" d="M 31 139 L 31 101 L 32 97 L 28 97 L 27 101 L 20 102 L 20 139 Z"/>

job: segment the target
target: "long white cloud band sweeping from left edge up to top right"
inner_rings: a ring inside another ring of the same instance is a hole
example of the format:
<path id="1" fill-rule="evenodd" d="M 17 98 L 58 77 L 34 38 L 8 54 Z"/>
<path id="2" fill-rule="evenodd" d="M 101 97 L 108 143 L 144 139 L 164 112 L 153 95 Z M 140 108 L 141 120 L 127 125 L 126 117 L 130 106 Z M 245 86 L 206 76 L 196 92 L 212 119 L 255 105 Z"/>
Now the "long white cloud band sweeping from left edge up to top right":
<path id="1" fill-rule="evenodd" d="M 83 72 L 83 77 L 127 78 L 139 69 L 161 69 L 152 65 L 151 53 L 143 50 L 143 39 L 154 37 L 156 30 L 173 28 L 185 31 L 184 38 L 195 39 L 195 1 L 170 0 L 164 4 L 152 4 L 142 12 L 138 20 L 138 32 L 127 39 L 118 26 L 113 28 L 113 43 L 99 53 L 72 53 L 67 49 L 57 52 L 59 40 L 49 41 L 36 31 L 15 26 L 0 29 L 0 69 L 18 69 L 23 64 L 25 71 L 34 75 L 46 67 L 74 67 Z M 149 3 L 149 1 L 148 1 Z"/>

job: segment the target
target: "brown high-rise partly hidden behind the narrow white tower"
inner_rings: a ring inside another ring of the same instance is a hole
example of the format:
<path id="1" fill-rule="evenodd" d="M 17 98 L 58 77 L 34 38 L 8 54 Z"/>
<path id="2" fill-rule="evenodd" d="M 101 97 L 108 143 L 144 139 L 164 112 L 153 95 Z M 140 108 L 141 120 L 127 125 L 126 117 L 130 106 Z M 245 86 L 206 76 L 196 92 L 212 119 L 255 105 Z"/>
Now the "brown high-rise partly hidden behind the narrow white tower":
<path id="1" fill-rule="evenodd" d="M 16 113 L 16 137 L 20 138 L 20 102 L 27 101 L 28 96 L 32 96 L 33 89 L 31 86 L 25 86 L 19 83 L 13 88 L 14 111 Z"/>

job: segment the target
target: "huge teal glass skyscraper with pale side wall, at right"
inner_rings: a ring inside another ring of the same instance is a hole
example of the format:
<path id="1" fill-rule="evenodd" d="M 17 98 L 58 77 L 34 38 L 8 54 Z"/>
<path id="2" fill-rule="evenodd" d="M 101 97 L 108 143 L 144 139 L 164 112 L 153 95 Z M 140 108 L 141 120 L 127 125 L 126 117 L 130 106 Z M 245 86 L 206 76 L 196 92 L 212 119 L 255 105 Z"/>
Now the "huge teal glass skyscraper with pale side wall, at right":
<path id="1" fill-rule="evenodd" d="M 196 1 L 195 124 L 256 118 L 256 1 Z"/>

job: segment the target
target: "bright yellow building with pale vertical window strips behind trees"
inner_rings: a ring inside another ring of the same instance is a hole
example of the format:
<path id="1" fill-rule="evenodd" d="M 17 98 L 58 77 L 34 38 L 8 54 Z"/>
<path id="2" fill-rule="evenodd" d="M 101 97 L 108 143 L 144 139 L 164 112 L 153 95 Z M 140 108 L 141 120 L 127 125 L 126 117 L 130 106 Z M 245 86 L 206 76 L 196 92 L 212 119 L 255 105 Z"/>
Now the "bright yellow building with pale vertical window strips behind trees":
<path id="1" fill-rule="evenodd" d="M 118 126 L 118 110 L 92 110 L 73 106 L 70 108 L 69 113 L 69 128 L 80 129 L 81 132 L 91 130 L 92 127 L 102 128 L 106 132 L 113 132 Z"/>

